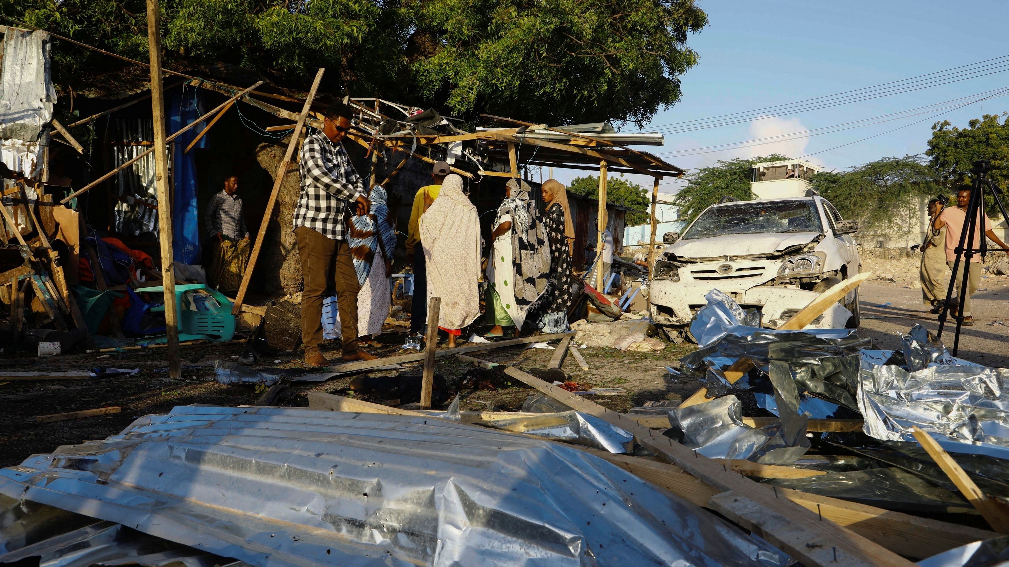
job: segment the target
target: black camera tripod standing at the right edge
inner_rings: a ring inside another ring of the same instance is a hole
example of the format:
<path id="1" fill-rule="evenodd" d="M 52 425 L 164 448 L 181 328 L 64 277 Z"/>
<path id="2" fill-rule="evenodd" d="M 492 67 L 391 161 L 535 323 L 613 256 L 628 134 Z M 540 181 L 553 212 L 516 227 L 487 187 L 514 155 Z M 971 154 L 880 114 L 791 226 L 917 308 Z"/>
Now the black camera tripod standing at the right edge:
<path id="1" fill-rule="evenodd" d="M 987 159 L 978 160 L 972 163 L 974 172 L 974 184 L 971 190 L 971 199 L 967 203 L 967 216 L 964 218 L 964 229 L 960 233 L 960 243 L 958 243 L 957 248 L 954 252 L 957 253 L 957 259 L 952 264 L 952 274 L 949 276 L 949 285 L 946 288 L 946 299 L 945 303 L 942 305 L 942 312 L 939 313 L 939 329 L 936 333 L 938 338 L 942 338 L 942 328 L 945 326 L 946 313 L 949 311 L 949 301 L 952 299 L 952 290 L 957 285 L 957 270 L 960 269 L 961 263 L 966 263 L 965 269 L 963 271 L 960 295 L 958 296 L 957 314 L 954 315 L 954 320 L 957 321 L 956 335 L 952 341 L 952 356 L 957 356 L 957 350 L 960 348 L 960 330 L 964 324 L 964 303 L 967 297 L 968 284 L 971 277 L 971 259 L 974 258 L 976 254 L 981 254 L 982 261 L 984 261 L 985 255 L 988 254 L 988 244 L 985 240 L 984 222 L 981 221 L 981 212 L 984 209 L 985 202 L 985 188 L 995 198 L 995 203 L 998 204 L 999 210 L 1002 212 L 1002 218 L 1009 220 L 1009 216 L 1006 215 L 1006 208 L 1002 204 L 1002 199 L 999 195 L 1002 194 L 1002 189 L 999 188 L 995 181 L 992 181 L 991 177 L 988 176 L 988 172 L 992 170 L 992 165 Z M 981 223 L 979 230 L 978 224 Z M 931 227 L 929 226 L 929 229 Z M 980 243 L 974 242 L 975 231 L 978 231 L 980 235 Z M 977 248 L 975 248 L 977 246 Z"/>

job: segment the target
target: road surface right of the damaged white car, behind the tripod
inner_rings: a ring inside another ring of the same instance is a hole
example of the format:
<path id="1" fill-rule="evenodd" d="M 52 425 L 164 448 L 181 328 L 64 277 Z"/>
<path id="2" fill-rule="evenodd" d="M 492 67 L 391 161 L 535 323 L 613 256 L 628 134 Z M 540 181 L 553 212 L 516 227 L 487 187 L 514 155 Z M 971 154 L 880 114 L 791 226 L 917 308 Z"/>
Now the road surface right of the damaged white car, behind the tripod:
<path id="1" fill-rule="evenodd" d="M 870 281 L 862 284 L 862 329 L 880 348 L 900 347 L 899 332 L 906 333 L 915 323 L 936 332 L 936 315 L 925 310 L 921 290 L 907 289 L 893 283 Z M 993 321 L 1009 324 L 1009 280 L 985 278 L 972 301 L 975 324 L 963 327 L 958 356 L 987 367 L 1009 368 L 1009 326 L 993 326 Z M 890 303 L 890 305 L 886 305 Z M 949 319 L 951 322 L 951 319 Z M 942 342 L 950 351 L 955 326 L 946 324 Z"/>

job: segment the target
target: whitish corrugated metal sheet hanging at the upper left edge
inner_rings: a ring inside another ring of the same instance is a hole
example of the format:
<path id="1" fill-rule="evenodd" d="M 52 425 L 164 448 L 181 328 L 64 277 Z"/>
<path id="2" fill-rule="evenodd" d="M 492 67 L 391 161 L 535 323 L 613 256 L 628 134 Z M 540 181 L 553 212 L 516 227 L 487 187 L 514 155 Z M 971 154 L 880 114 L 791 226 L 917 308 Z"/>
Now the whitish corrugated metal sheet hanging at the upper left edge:
<path id="1" fill-rule="evenodd" d="M 49 34 L 7 28 L 0 73 L 0 138 L 38 140 L 52 120 L 57 92 L 49 68 Z"/>

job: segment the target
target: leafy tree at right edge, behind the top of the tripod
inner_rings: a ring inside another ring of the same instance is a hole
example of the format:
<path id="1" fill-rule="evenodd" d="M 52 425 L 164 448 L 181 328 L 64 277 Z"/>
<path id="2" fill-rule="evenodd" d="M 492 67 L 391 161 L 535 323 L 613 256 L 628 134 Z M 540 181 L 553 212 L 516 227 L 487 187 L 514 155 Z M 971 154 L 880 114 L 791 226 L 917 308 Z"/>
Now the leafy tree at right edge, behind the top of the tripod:
<path id="1" fill-rule="evenodd" d="M 1003 114 L 1002 116 L 1006 116 Z M 925 155 L 943 187 L 971 180 L 971 162 L 987 159 L 992 162 L 992 180 L 1005 187 L 1009 179 L 1009 118 L 999 122 L 998 115 L 986 114 L 968 122 L 967 128 L 956 128 L 948 120 L 932 125 Z"/>

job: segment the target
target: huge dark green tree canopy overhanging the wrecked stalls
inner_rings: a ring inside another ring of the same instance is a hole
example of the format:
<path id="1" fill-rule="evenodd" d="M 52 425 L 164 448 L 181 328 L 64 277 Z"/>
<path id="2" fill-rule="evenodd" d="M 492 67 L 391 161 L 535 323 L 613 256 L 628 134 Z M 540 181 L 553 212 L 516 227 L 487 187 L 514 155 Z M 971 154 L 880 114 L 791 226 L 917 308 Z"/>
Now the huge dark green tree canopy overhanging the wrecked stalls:
<path id="1" fill-rule="evenodd" d="M 697 63 L 696 0 L 161 0 L 165 64 L 229 63 L 305 88 L 534 122 L 647 122 Z M 145 60 L 145 0 L 0 0 L 0 14 Z M 8 21 L 6 23 L 15 23 Z M 133 87 L 146 69 L 55 41 L 61 90 Z"/>

